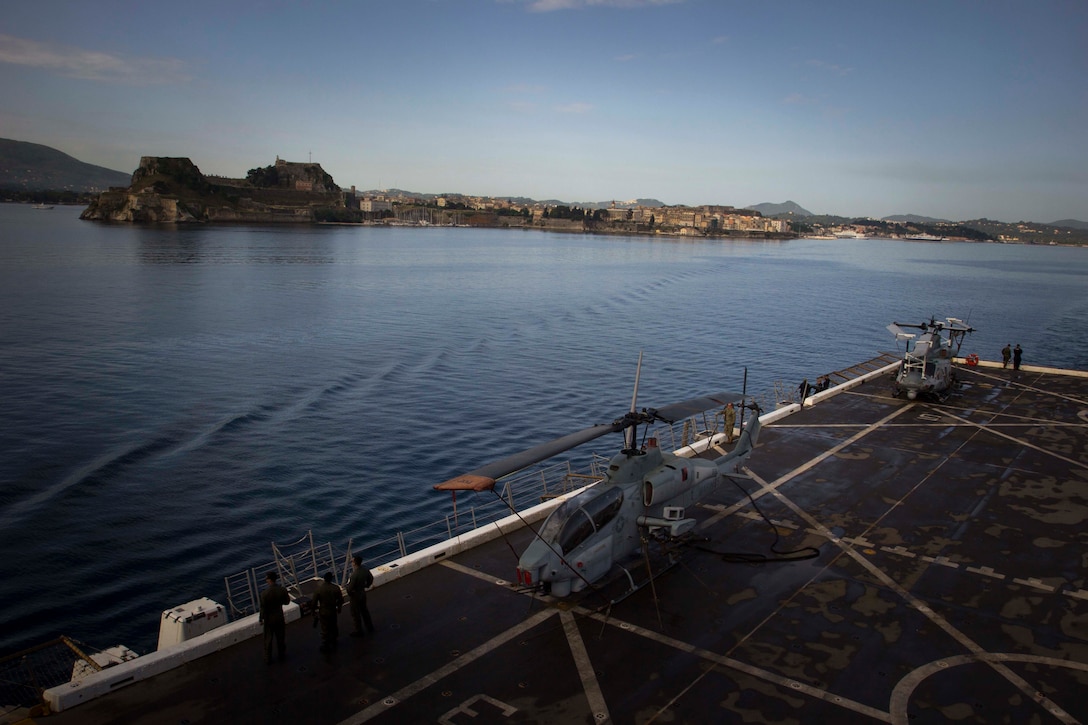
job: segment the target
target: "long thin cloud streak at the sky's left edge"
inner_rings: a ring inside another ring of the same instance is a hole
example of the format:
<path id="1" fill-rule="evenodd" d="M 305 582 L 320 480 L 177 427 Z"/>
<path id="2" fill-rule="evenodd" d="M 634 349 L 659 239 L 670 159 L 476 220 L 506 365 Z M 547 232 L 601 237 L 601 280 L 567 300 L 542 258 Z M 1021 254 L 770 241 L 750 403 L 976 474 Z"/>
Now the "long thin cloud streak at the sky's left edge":
<path id="1" fill-rule="evenodd" d="M 173 58 L 126 58 L 0 34 L 0 63 L 51 71 L 81 81 L 154 85 L 189 81 L 185 63 Z"/>

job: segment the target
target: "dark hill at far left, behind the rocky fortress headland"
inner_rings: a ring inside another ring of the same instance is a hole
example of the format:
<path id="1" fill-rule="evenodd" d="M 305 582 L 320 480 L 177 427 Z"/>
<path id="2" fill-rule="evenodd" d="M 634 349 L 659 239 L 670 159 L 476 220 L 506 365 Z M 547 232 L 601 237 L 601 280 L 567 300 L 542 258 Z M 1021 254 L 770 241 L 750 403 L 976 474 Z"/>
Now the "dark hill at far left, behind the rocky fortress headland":
<path id="1" fill-rule="evenodd" d="M 0 188 L 102 192 L 131 181 L 131 174 L 84 163 L 49 146 L 0 138 Z"/>

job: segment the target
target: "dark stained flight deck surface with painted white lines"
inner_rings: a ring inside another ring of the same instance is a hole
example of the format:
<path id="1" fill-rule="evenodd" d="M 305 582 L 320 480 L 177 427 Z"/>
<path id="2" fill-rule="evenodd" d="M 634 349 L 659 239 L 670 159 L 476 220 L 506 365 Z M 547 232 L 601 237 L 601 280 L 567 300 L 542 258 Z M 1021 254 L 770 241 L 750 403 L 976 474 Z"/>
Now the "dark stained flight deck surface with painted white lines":
<path id="1" fill-rule="evenodd" d="M 961 378 L 766 426 L 737 481 L 755 506 L 721 486 L 689 512 L 701 548 L 611 606 L 615 583 L 516 590 L 520 530 L 374 589 L 378 632 L 345 611 L 332 655 L 304 620 L 286 663 L 247 641 L 41 720 L 1088 722 L 1088 377 Z M 726 555 L 771 546 L 819 553 Z"/>

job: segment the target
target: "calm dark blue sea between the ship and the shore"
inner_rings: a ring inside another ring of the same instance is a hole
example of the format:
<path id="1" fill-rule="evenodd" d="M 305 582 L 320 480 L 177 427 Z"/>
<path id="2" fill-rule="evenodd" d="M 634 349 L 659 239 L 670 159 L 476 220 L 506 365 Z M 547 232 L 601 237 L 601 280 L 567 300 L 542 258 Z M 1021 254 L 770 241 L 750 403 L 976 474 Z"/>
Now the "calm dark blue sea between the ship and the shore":
<path id="1" fill-rule="evenodd" d="M 134 228 L 0 205 L 0 655 L 154 648 L 307 529 L 640 404 L 849 367 L 892 320 L 1088 368 L 1088 249 L 472 229 Z M 601 453 L 609 454 L 609 439 Z M 753 462 L 755 465 L 755 462 Z"/>

